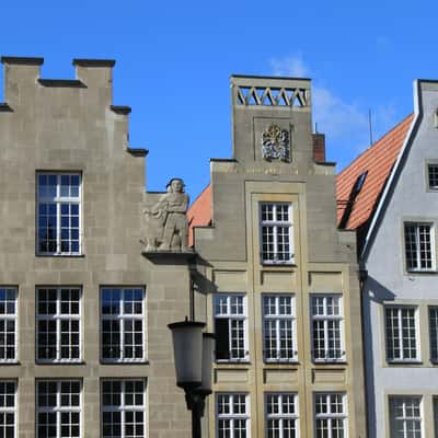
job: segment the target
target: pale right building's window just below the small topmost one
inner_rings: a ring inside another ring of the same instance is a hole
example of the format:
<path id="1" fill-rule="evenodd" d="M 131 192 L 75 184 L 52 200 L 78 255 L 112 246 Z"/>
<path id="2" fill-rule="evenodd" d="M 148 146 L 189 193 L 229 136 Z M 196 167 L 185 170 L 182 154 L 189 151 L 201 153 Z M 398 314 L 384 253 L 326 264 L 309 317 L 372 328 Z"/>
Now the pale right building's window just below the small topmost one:
<path id="1" fill-rule="evenodd" d="M 407 270 L 433 270 L 435 265 L 433 226 L 430 223 L 404 224 Z"/>

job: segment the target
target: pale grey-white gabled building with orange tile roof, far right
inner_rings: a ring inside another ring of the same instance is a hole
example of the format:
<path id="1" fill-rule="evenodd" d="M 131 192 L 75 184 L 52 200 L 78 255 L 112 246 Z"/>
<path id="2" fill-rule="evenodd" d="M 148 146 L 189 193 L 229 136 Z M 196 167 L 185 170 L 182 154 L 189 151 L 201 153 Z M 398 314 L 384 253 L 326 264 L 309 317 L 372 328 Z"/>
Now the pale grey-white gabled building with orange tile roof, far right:
<path id="1" fill-rule="evenodd" d="M 438 436 L 438 82 L 337 176 L 341 228 L 359 231 L 370 438 Z"/>

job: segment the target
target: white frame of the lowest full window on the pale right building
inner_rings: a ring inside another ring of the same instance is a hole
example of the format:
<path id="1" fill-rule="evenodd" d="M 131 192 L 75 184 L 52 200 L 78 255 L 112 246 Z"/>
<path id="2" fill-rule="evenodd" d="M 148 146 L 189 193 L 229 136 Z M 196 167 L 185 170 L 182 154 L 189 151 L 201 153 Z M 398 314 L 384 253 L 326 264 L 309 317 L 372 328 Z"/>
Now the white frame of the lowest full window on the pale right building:
<path id="1" fill-rule="evenodd" d="M 418 401 L 418 411 L 419 411 L 419 416 L 410 416 L 407 411 L 406 411 L 406 402 L 415 402 Z M 401 403 L 401 408 L 402 408 L 402 416 L 394 416 L 394 404 L 395 403 Z M 391 438 L 399 438 L 400 437 L 400 431 L 403 433 L 403 438 L 410 438 L 413 437 L 408 431 L 408 425 L 410 424 L 418 424 L 419 423 L 419 435 L 415 435 L 415 438 L 422 438 L 424 436 L 423 431 L 423 397 L 420 395 L 390 395 L 389 396 L 389 405 L 390 405 L 390 436 Z M 403 426 L 403 430 L 400 429 L 400 426 L 396 426 L 396 422 L 401 422 Z M 396 428 L 396 431 L 394 431 L 394 428 Z M 411 429 L 412 431 L 412 429 Z"/>

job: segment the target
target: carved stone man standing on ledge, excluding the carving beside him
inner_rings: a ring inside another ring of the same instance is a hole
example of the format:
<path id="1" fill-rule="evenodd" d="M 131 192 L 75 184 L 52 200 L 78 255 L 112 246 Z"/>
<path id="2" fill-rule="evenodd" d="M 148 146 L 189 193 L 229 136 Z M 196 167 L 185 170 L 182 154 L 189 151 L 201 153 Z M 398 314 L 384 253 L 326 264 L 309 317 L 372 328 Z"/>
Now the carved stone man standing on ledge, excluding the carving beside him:
<path id="1" fill-rule="evenodd" d="M 152 208 L 152 214 L 160 217 L 164 224 L 159 250 L 170 251 L 180 246 L 185 252 L 188 251 L 188 195 L 181 178 L 172 178 L 166 187 L 168 193 Z"/>

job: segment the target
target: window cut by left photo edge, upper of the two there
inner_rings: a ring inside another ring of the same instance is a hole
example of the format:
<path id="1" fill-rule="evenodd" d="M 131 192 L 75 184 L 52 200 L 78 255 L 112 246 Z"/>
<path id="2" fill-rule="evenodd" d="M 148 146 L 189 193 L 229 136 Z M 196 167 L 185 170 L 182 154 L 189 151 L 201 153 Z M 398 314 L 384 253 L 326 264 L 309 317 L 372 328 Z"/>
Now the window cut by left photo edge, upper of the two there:
<path id="1" fill-rule="evenodd" d="M 0 362 L 16 359 L 16 289 L 0 287 Z"/>

